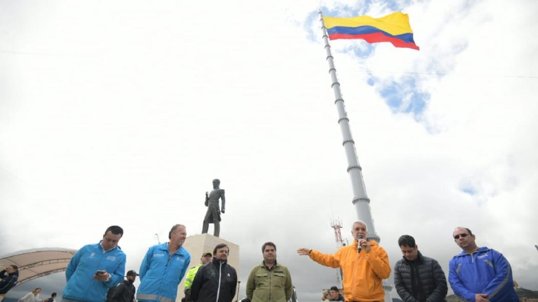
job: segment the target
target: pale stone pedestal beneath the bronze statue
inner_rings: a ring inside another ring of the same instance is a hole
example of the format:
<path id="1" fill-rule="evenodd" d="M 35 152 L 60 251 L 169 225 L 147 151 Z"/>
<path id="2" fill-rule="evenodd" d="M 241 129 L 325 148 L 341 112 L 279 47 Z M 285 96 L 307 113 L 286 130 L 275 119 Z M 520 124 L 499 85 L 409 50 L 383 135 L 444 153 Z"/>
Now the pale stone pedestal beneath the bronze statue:
<path id="1" fill-rule="evenodd" d="M 231 243 L 230 241 L 226 241 L 220 237 L 215 237 L 208 233 L 188 236 L 185 243 L 183 243 L 183 247 L 190 254 L 189 269 L 200 264 L 202 254 L 208 252 L 213 254 L 213 249 L 220 243 L 225 243 L 230 248 L 230 254 L 228 254 L 228 264 L 235 268 L 237 272 L 237 279 L 239 280 L 239 246 L 235 243 Z M 187 274 L 185 274 L 185 276 L 187 276 Z M 185 297 L 183 289 L 185 289 L 185 277 L 183 277 L 178 285 L 178 295 L 175 298 L 176 302 L 181 302 L 181 299 Z M 232 301 L 235 301 L 236 299 L 237 297 L 234 297 Z"/>

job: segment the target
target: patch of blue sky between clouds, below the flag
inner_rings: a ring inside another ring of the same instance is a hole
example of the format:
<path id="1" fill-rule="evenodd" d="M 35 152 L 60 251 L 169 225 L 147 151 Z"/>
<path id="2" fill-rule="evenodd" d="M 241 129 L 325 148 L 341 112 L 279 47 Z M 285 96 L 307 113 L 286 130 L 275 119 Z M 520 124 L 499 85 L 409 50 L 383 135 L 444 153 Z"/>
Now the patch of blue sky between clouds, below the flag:
<path id="1" fill-rule="evenodd" d="M 373 78 L 371 82 L 376 83 L 376 79 Z M 414 77 L 404 77 L 402 81 L 383 84 L 380 94 L 393 112 L 410 113 L 415 119 L 421 116 L 430 99 L 428 92 L 422 92 L 417 87 Z"/>

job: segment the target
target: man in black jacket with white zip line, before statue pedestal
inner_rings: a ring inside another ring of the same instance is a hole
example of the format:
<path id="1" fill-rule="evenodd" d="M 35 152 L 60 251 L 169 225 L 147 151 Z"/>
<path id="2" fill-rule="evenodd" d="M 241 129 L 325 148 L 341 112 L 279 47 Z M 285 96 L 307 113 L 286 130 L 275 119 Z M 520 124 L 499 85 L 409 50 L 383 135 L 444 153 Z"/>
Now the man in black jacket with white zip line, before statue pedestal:
<path id="1" fill-rule="evenodd" d="M 193 301 L 231 302 L 235 296 L 237 273 L 226 262 L 228 253 L 230 249 L 224 243 L 217 245 L 213 249 L 213 261 L 198 269 L 190 287 Z"/>

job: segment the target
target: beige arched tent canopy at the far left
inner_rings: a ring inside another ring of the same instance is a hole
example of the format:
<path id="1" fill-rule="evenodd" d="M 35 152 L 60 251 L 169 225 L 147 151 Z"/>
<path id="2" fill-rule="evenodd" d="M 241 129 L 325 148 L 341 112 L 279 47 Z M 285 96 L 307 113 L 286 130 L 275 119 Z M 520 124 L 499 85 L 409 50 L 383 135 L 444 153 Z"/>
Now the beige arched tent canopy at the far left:
<path id="1" fill-rule="evenodd" d="M 0 256 L 0 268 L 16 264 L 19 267 L 17 286 L 30 280 L 65 271 L 76 249 L 36 248 L 19 250 Z"/>

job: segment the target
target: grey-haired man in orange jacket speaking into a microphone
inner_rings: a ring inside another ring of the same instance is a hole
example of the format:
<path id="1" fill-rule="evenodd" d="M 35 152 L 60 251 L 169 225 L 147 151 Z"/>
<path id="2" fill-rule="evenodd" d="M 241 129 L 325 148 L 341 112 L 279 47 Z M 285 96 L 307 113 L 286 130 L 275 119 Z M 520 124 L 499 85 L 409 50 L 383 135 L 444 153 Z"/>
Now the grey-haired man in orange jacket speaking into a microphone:
<path id="1" fill-rule="evenodd" d="M 327 267 L 342 268 L 346 301 L 383 302 L 383 279 L 391 275 L 387 252 L 376 241 L 365 239 L 367 227 L 363 221 L 353 223 L 351 234 L 355 238 L 352 245 L 338 249 L 335 254 L 322 254 L 309 248 L 300 248 L 297 253 L 308 255 L 315 262 Z"/>

